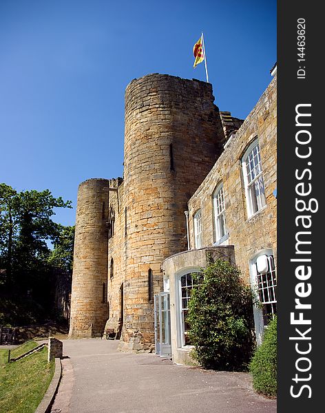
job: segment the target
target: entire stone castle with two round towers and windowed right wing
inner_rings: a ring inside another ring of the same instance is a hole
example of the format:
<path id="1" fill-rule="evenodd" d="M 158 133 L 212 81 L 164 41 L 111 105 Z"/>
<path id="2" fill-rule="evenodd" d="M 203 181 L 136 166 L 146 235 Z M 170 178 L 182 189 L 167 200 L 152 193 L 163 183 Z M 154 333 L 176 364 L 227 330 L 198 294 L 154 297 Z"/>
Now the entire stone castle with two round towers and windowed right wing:
<path id="1" fill-rule="evenodd" d="M 70 337 L 120 328 L 120 350 L 185 362 L 191 273 L 236 264 L 276 312 L 276 75 L 246 120 L 210 83 L 149 74 L 125 91 L 124 176 L 78 187 Z"/>

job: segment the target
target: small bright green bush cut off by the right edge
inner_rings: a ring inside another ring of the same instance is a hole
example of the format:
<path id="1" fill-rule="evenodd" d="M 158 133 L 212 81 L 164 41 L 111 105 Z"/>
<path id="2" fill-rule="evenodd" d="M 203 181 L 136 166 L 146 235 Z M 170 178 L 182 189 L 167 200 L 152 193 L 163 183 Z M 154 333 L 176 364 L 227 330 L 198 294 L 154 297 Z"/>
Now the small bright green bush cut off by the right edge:
<path id="1" fill-rule="evenodd" d="M 265 396 L 277 394 L 277 319 L 273 319 L 264 334 L 264 340 L 255 351 L 249 370 L 253 388 Z"/>

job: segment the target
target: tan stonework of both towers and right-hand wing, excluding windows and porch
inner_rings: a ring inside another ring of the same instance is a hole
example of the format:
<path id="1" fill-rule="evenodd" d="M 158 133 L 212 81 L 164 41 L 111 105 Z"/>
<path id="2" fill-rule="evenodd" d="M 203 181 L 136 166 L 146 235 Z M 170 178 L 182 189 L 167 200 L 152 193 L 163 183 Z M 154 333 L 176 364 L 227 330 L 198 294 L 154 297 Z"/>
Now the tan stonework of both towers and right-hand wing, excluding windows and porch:
<path id="1" fill-rule="evenodd" d="M 124 176 L 86 180 L 78 189 L 70 337 L 103 334 L 106 323 L 121 326 L 120 350 L 154 349 L 153 298 L 163 290 L 162 262 L 187 250 L 187 208 L 191 244 L 199 208 L 203 244 L 213 244 L 211 191 L 221 180 L 228 244 L 246 279 L 253 251 L 276 251 L 275 96 L 273 80 L 242 124 L 220 113 L 209 83 L 162 74 L 129 83 Z M 267 206 L 247 220 L 240 158 L 255 136 Z"/>

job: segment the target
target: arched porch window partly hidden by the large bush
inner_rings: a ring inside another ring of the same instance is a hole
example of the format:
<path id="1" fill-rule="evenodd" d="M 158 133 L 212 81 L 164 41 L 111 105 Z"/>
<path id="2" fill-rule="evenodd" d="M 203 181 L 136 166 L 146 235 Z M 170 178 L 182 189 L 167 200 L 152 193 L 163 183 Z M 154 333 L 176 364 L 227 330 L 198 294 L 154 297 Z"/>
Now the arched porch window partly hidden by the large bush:
<path id="1" fill-rule="evenodd" d="M 198 273 L 195 271 L 194 273 Z M 186 321 L 187 312 L 189 310 L 189 298 L 191 297 L 191 290 L 194 285 L 197 284 L 197 280 L 193 277 L 192 273 L 187 273 L 180 277 L 180 330 L 181 339 L 180 345 L 187 346 L 191 344 L 187 332 L 189 330 L 189 324 Z"/>

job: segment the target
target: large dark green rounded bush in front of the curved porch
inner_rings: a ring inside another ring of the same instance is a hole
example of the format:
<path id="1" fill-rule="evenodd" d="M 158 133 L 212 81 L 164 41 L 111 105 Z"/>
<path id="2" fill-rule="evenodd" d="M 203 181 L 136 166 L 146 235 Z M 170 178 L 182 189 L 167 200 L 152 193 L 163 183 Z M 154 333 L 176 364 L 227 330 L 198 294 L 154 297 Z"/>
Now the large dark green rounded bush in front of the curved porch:
<path id="1" fill-rule="evenodd" d="M 254 343 L 251 290 L 229 262 L 216 260 L 198 275 L 187 321 L 193 355 L 201 366 L 247 368 Z"/>

